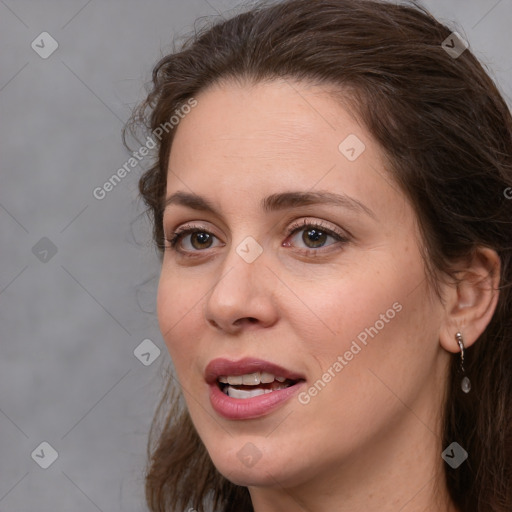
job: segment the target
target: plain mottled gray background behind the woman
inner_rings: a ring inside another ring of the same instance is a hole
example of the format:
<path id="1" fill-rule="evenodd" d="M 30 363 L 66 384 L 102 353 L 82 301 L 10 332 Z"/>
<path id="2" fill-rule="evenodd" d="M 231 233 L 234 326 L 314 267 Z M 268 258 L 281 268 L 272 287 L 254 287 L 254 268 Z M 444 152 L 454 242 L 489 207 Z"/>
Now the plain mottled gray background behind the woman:
<path id="1" fill-rule="evenodd" d="M 1 512 L 146 510 L 147 433 L 169 358 L 141 167 L 101 201 L 92 190 L 129 158 L 122 124 L 173 36 L 236 5 L 0 0 Z M 469 40 L 510 104 L 512 2 L 424 5 Z M 31 48 L 43 31 L 59 44 L 47 59 Z M 43 237 L 55 255 L 45 241 L 33 251 Z M 148 366 L 134 355 L 144 339 L 161 349 Z M 43 441 L 58 452 L 48 469 L 31 457 Z"/>

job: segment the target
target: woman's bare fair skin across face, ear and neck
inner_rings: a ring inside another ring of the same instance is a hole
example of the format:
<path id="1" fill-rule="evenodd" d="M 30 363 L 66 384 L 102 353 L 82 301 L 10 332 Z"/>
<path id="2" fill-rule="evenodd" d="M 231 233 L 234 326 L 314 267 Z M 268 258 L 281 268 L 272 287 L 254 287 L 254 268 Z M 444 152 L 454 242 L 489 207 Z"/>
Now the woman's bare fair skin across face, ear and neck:
<path id="1" fill-rule="evenodd" d="M 441 301 L 426 280 L 416 215 L 382 149 L 326 87 L 223 82 L 196 99 L 177 128 L 167 195 L 194 192 L 217 213 L 172 204 L 164 229 L 171 238 L 198 226 L 213 239 L 209 246 L 189 234 L 182 252 L 165 251 L 157 305 L 213 463 L 249 488 L 256 512 L 455 511 L 440 457 L 447 369 L 455 333 L 469 346 L 492 316 L 495 254 L 468 262 L 461 285 L 443 283 Z M 349 134 L 366 147 L 354 161 L 338 149 Z M 346 194 L 373 215 L 326 204 L 260 207 L 298 190 Z M 317 247 L 304 227 L 287 235 L 304 220 L 348 231 L 348 241 L 328 236 Z M 263 249 L 252 263 L 236 252 L 248 236 Z M 212 359 L 272 361 L 302 373 L 307 390 L 397 303 L 400 312 L 307 404 L 293 397 L 242 421 L 213 410 L 204 380 Z M 247 443 L 260 456 L 251 467 L 237 455 Z"/>

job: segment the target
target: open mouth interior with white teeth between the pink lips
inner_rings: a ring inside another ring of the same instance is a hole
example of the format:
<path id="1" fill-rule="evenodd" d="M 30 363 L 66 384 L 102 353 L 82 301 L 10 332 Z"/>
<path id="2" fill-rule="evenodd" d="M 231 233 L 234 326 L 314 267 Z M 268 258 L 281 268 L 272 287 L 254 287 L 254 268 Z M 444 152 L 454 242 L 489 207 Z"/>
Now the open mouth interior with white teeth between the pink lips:
<path id="1" fill-rule="evenodd" d="M 247 373 L 245 375 L 221 375 L 217 378 L 220 390 L 231 398 L 253 398 L 280 389 L 286 389 L 299 380 L 275 376 L 267 372 Z"/>

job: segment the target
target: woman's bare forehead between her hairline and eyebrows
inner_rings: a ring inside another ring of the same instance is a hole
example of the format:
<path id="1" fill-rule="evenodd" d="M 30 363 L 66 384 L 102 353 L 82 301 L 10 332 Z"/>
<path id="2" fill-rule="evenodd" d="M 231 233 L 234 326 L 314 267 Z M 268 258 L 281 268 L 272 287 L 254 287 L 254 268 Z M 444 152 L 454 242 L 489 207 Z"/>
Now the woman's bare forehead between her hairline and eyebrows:
<path id="1" fill-rule="evenodd" d="M 177 127 L 167 195 L 188 189 L 239 209 L 241 197 L 260 204 L 276 192 L 322 189 L 389 205 L 398 190 L 378 144 L 331 92 L 284 80 L 201 92 Z"/>

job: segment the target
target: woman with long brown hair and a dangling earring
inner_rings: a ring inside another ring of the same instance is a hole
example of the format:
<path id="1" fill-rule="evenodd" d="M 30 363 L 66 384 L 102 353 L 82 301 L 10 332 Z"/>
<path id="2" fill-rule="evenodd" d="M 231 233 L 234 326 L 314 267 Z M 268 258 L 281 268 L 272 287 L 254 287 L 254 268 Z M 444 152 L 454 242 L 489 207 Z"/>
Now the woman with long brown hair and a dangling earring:
<path id="1" fill-rule="evenodd" d="M 177 378 L 150 509 L 510 512 L 512 120 L 467 43 L 261 4 L 164 57 L 141 119 Z"/>

